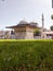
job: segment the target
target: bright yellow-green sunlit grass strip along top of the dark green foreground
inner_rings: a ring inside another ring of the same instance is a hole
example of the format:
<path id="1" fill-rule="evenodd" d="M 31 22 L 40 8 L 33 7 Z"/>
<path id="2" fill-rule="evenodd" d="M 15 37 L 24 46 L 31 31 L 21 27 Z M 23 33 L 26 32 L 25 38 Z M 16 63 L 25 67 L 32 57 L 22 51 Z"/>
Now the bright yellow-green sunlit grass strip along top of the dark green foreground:
<path id="1" fill-rule="evenodd" d="M 53 42 L 53 39 L 0 39 L 0 42 Z"/>

